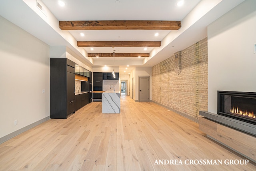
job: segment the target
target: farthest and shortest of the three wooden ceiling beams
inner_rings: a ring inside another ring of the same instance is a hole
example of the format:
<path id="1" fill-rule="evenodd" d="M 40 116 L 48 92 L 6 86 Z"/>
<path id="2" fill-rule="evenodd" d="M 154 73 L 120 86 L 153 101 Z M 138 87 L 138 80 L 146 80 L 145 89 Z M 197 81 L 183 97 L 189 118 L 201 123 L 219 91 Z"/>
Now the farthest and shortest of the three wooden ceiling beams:
<path id="1" fill-rule="evenodd" d="M 88 57 L 149 57 L 149 53 L 88 53 Z"/>

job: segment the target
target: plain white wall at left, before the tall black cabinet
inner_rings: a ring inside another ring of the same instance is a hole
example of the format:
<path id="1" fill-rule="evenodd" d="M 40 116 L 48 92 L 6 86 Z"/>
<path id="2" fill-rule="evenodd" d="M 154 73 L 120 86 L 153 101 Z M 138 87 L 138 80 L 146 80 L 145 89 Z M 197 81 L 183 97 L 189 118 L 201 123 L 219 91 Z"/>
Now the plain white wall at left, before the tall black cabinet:
<path id="1" fill-rule="evenodd" d="M 0 56 L 1 138 L 50 116 L 50 47 L 0 16 Z"/>

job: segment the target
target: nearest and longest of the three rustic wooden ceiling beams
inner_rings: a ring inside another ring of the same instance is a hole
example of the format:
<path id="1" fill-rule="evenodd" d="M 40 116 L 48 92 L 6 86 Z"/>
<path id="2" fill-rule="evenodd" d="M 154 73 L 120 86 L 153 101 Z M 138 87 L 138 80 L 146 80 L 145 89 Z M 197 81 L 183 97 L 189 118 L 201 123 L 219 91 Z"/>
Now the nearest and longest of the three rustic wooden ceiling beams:
<path id="1" fill-rule="evenodd" d="M 61 30 L 178 30 L 181 21 L 59 21 Z"/>

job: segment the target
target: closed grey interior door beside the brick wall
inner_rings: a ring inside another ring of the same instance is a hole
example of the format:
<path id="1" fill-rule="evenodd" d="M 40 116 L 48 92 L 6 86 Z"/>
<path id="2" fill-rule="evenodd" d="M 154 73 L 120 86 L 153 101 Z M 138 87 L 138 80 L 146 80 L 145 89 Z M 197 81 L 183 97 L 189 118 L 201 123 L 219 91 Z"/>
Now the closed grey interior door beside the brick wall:
<path id="1" fill-rule="evenodd" d="M 149 101 L 149 78 L 139 77 L 139 101 Z"/>

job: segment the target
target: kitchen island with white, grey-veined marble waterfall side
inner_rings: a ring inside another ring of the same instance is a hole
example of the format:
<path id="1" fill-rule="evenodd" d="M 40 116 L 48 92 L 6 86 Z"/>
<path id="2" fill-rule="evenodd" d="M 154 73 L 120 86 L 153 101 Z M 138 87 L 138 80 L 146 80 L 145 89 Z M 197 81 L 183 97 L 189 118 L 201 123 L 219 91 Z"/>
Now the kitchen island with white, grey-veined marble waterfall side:
<path id="1" fill-rule="evenodd" d="M 102 113 L 120 113 L 120 91 L 102 93 Z"/>

